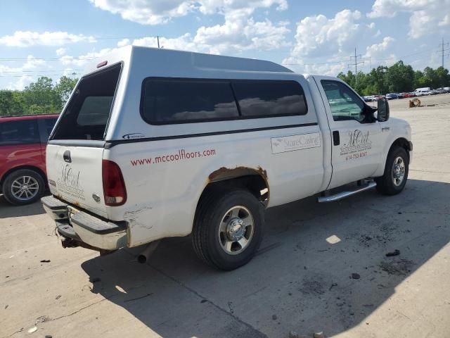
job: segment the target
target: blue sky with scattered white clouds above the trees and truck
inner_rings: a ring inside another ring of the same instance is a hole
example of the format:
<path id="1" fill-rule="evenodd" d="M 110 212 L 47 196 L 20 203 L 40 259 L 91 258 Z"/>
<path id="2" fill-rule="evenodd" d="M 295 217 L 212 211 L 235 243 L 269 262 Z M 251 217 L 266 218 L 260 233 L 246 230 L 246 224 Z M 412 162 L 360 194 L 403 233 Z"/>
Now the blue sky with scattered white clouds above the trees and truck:
<path id="1" fill-rule="evenodd" d="M 338 75 L 402 60 L 450 67 L 450 0 L 2 0 L 0 89 L 79 77 L 135 44 L 260 58 Z"/>

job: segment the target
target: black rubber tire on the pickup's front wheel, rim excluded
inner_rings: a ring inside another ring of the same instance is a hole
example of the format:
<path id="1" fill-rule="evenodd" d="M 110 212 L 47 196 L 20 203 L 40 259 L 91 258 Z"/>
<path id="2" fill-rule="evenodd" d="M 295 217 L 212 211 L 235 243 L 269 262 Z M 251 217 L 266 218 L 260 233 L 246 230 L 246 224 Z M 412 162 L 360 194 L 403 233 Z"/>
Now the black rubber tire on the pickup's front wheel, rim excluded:
<path id="1" fill-rule="evenodd" d="M 398 182 L 398 179 L 394 178 L 397 177 L 394 170 L 394 161 L 397 161 L 399 158 L 401 158 L 401 161 L 404 163 L 404 176 L 401 182 Z M 375 178 L 378 192 L 385 195 L 399 194 L 404 189 L 406 180 L 408 180 L 408 172 L 409 156 L 406 153 L 406 150 L 400 146 L 392 148 L 389 154 L 387 154 L 384 175 Z M 398 182 L 398 184 L 396 182 Z"/>

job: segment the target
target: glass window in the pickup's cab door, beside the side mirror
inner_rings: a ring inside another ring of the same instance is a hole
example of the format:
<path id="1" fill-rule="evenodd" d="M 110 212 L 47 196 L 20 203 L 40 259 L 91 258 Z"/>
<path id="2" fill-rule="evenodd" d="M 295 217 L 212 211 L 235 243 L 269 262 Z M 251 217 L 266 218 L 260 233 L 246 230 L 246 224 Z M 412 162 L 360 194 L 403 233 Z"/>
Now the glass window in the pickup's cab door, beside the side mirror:
<path id="1" fill-rule="evenodd" d="M 357 120 L 361 123 L 366 119 L 365 104 L 352 89 L 339 81 L 321 80 L 326 98 L 330 104 L 333 120 Z"/>

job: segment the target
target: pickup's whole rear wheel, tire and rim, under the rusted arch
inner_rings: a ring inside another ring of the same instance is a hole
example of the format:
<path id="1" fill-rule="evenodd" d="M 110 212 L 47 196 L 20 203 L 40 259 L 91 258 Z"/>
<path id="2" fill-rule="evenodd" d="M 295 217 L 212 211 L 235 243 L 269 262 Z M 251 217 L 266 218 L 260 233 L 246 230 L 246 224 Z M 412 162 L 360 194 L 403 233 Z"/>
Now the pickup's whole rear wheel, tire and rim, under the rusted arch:
<path id="1" fill-rule="evenodd" d="M 239 268 L 255 256 L 263 225 L 264 208 L 247 190 L 210 192 L 195 215 L 195 253 L 214 268 Z"/>

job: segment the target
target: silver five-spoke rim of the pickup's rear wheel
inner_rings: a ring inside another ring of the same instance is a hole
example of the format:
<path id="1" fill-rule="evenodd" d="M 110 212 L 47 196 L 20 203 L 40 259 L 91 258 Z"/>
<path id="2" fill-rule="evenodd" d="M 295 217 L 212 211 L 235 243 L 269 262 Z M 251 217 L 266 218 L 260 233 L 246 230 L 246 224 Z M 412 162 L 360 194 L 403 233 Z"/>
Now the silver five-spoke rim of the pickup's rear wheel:
<path id="1" fill-rule="evenodd" d="M 252 213 L 245 206 L 233 206 L 222 217 L 219 243 L 229 255 L 237 255 L 248 248 L 255 232 Z"/>

